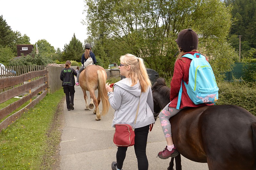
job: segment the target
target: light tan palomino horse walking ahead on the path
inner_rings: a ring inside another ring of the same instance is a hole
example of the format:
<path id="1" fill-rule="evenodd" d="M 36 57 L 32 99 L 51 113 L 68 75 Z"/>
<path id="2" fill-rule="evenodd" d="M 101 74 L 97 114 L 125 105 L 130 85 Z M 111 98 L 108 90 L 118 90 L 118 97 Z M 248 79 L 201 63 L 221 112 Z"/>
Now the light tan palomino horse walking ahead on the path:
<path id="1" fill-rule="evenodd" d="M 84 92 L 85 109 L 89 110 L 95 105 L 96 120 L 100 120 L 99 104 L 100 99 L 102 100 L 102 112 L 101 115 L 104 116 L 108 113 L 109 102 L 108 102 L 108 92 L 106 90 L 105 84 L 107 80 L 107 73 L 101 66 L 90 65 L 87 66 L 79 75 L 79 84 Z M 98 98 L 95 97 L 94 91 L 98 89 Z M 87 103 L 86 91 L 90 92 L 91 103 Z"/>

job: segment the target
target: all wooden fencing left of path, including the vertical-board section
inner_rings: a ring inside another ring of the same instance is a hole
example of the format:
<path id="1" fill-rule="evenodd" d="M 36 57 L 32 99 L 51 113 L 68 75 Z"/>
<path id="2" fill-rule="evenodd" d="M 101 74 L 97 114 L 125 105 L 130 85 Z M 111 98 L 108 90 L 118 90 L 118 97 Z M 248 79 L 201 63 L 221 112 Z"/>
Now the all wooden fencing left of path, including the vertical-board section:
<path id="1" fill-rule="evenodd" d="M 60 72 L 62 68 L 62 65 L 46 67 L 17 66 L 6 68 L 7 70 L 14 70 L 15 72 L 6 72 L 0 75 L 0 104 L 13 97 L 24 96 L 22 95 L 24 93 L 28 95 L 0 109 L 0 120 L 2 120 L 0 122 L 0 130 L 7 128 L 8 125 L 20 118 L 24 112 L 27 112 L 27 109 L 33 108 L 46 96 L 47 92 L 54 93 L 61 89 L 62 81 L 60 80 Z M 42 94 L 38 95 L 40 92 L 42 92 Z M 36 99 L 32 101 L 33 97 L 36 97 Z M 27 101 L 30 101 L 28 105 L 4 119 Z"/>

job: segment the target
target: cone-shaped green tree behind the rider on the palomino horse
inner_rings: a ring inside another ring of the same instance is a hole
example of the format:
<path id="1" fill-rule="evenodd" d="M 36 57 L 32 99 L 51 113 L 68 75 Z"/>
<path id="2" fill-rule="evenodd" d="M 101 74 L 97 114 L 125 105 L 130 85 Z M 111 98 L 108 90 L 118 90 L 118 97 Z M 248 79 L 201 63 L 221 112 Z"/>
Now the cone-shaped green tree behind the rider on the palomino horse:
<path id="1" fill-rule="evenodd" d="M 81 62 L 81 57 L 84 52 L 83 43 L 81 43 L 78 39 L 76 39 L 76 35 L 74 33 L 69 44 L 64 45 L 62 60 L 74 60 L 77 62 Z"/>

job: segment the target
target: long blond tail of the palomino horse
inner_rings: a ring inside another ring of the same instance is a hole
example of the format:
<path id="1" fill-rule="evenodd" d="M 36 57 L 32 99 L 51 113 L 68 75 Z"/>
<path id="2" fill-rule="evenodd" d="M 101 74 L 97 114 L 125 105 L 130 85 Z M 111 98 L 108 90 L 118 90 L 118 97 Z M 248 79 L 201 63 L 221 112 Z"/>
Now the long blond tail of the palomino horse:
<path id="1" fill-rule="evenodd" d="M 102 101 L 102 112 L 101 115 L 104 116 L 108 113 L 109 102 L 108 102 L 108 91 L 106 89 L 106 75 L 103 70 L 98 70 L 98 92 Z"/>

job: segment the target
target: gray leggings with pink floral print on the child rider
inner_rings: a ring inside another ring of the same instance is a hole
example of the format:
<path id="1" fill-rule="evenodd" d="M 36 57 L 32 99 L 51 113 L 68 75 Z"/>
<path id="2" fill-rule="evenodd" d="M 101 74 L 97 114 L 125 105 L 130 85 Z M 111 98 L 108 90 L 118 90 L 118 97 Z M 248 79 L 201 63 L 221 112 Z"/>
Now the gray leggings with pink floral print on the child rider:
<path id="1" fill-rule="evenodd" d="M 175 114 L 177 114 L 178 112 L 180 112 L 180 110 L 181 110 L 181 109 L 176 109 L 176 108 L 173 108 L 173 107 L 169 107 L 170 103 L 168 103 L 164 107 L 162 112 L 159 113 L 159 120 L 161 122 L 161 126 L 162 126 L 162 129 L 163 129 L 165 138 L 172 136 L 171 123 L 170 123 L 169 119 L 172 116 L 174 116 Z"/>

